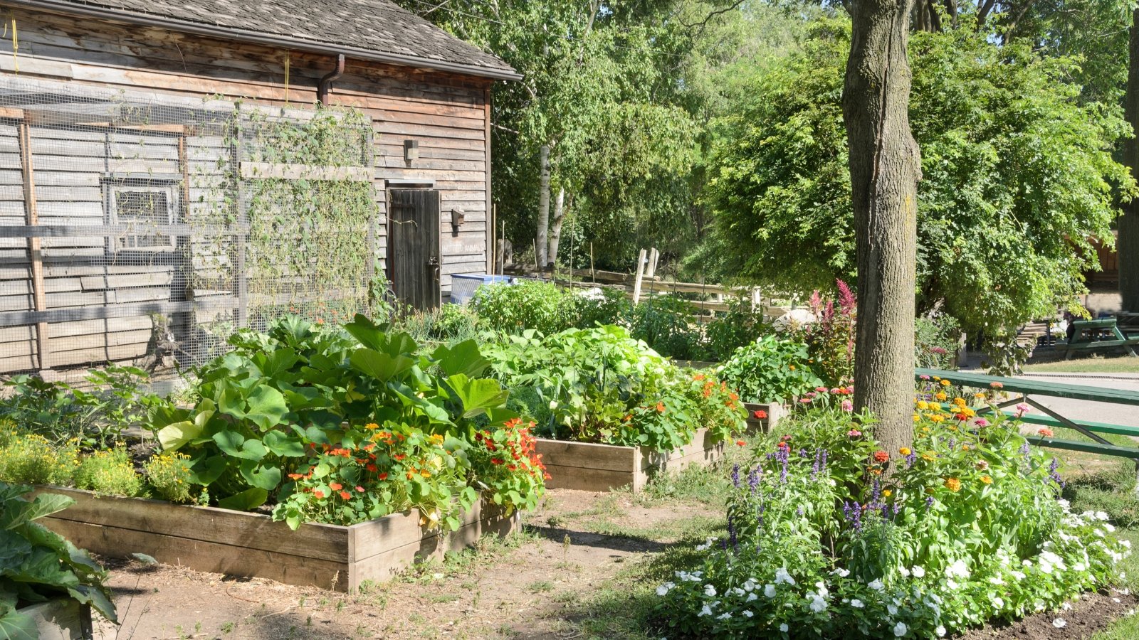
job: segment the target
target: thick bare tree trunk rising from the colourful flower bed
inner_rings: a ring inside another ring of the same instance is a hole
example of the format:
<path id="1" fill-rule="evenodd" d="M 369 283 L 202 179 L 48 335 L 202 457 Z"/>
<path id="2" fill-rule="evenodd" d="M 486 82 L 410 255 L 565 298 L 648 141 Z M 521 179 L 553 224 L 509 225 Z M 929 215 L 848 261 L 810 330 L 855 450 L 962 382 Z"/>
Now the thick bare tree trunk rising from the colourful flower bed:
<path id="1" fill-rule="evenodd" d="M 854 403 L 895 458 L 913 440 L 917 182 L 921 164 L 908 115 L 906 59 L 912 0 L 853 2 L 843 88 L 858 253 Z"/>

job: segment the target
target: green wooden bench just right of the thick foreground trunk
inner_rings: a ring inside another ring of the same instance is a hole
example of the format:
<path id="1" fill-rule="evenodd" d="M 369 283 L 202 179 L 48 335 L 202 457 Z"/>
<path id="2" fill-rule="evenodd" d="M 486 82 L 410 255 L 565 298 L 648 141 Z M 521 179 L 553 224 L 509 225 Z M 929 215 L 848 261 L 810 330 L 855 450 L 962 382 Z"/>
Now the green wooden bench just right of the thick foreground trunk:
<path id="1" fill-rule="evenodd" d="M 1033 407 L 1040 413 L 1026 413 L 1021 417 L 1022 422 L 1027 422 L 1030 425 L 1041 425 L 1047 427 L 1063 427 L 1068 429 L 1074 429 L 1081 434 L 1088 436 L 1093 442 L 1080 442 L 1074 440 L 1063 440 L 1057 437 L 1048 437 L 1041 435 L 1027 436 L 1029 442 L 1038 446 L 1048 446 L 1051 449 L 1063 449 L 1067 451 L 1081 451 L 1084 453 L 1099 453 L 1101 456 L 1115 456 L 1120 458 L 1130 458 L 1136 461 L 1136 470 L 1139 473 L 1139 440 L 1136 441 L 1136 446 L 1121 446 L 1108 442 L 1099 434 L 1114 434 L 1114 435 L 1125 435 L 1129 437 L 1139 438 L 1139 427 L 1129 427 L 1124 425 L 1108 425 L 1106 422 L 1092 422 L 1089 420 L 1075 420 L 1065 418 L 1060 416 L 1052 409 L 1040 404 L 1033 396 L 1046 396 L 1046 397 L 1064 397 L 1068 400 L 1087 400 L 1092 402 L 1107 402 L 1113 404 L 1128 404 L 1131 407 L 1139 407 L 1139 392 L 1126 391 L 1126 389 L 1113 389 L 1103 387 L 1091 387 L 1084 385 L 1070 385 L 1063 383 L 1052 383 L 1047 380 L 1025 380 L 1019 378 L 1002 378 L 998 376 L 985 376 L 983 374 L 962 374 L 960 371 L 943 371 L 940 369 L 916 369 L 915 378 L 920 379 L 923 376 L 929 378 L 940 377 L 949 380 L 952 384 L 962 387 L 974 387 L 974 388 L 993 388 L 993 383 L 1000 385 L 1000 391 L 1011 392 L 1019 394 L 1019 397 L 1008 400 L 998 403 L 994 408 L 998 411 L 1003 412 L 1006 416 L 1015 417 L 1014 411 L 1007 410 L 1008 407 L 1014 404 L 1019 404 L 1024 402 L 1030 407 Z M 988 411 L 992 411 L 989 409 Z M 985 411 L 981 412 L 985 413 Z M 1139 491 L 1139 485 L 1136 487 Z"/>

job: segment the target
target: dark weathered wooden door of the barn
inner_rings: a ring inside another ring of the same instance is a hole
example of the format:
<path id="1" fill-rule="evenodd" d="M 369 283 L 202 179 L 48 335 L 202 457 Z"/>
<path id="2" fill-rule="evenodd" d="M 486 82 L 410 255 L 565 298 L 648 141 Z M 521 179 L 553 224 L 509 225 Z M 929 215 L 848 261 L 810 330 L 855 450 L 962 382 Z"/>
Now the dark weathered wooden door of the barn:
<path id="1" fill-rule="evenodd" d="M 395 297 L 420 311 L 437 309 L 440 290 L 440 194 L 392 189 L 387 203 L 387 273 Z"/>

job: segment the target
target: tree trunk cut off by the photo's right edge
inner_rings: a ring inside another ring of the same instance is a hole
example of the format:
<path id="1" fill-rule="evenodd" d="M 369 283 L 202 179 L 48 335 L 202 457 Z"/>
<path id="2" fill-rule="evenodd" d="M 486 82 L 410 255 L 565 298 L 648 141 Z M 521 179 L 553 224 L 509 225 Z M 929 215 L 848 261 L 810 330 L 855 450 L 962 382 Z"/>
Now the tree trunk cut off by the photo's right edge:
<path id="1" fill-rule="evenodd" d="M 1126 118 L 1139 136 L 1139 9 L 1131 15 L 1130 60 L 1128 63 Z M 1124 162 L 1131 175 L 1139 179 L 1139 138 L 1129 139 L 1123 147 Z M 1123 206 L 1118 221 L 1120 295 L 1123 311 L 1139 313 L 1139 198 Z"/>

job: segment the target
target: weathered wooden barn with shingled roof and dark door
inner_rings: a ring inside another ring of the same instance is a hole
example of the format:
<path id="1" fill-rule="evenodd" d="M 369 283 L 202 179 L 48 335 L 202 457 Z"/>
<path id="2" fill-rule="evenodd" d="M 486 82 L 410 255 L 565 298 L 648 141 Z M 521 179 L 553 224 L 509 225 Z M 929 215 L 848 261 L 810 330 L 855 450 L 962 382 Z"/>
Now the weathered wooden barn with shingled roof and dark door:
<path id="1" fill-rule="evenodd" d="M 186 364 L 380 274 L 429 309 L 492 271 L 499 58 L 387 0 L 2 7 L 0 375 Z"/>

